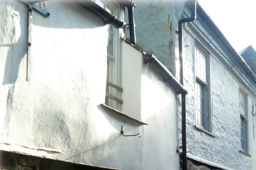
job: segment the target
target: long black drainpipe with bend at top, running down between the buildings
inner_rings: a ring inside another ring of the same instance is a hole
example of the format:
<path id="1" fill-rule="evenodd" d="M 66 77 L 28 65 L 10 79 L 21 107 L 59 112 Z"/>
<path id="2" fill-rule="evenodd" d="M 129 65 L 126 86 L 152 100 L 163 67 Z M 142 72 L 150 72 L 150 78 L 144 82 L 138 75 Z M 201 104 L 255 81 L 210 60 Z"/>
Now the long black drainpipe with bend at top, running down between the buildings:
<path id="1" fill-rule="evenodd" d="M 180 84 L 183 85 L 183 59 L 182 59 L 182 24 L 192 22 L 196 18 L 196 3 L 191 2 L 191 17 L 183 18 L 178 23 L 178 39 L 179 39 L 179 54 L 180 54 Z M 186 94 L 181 94 L 181 129 L 182 129 L 182 170 L 187 170 L 186 157 Z"/>

